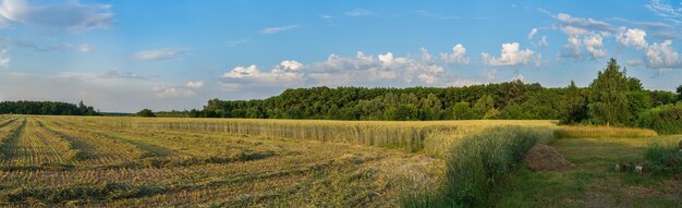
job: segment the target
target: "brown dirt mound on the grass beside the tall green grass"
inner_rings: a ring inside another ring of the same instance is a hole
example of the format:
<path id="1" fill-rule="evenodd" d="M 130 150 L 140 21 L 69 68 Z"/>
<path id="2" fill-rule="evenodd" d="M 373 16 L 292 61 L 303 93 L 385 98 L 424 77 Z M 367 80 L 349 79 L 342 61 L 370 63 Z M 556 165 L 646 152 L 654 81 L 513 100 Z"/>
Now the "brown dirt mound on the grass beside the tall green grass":
<path id="1" fill-rule="evenodd" d="M 563 159 L 555 148 L 547 145 L 535 145 L 523 159 L 534 171 L 561 171 L 575 168 L 575 164 Z"/>

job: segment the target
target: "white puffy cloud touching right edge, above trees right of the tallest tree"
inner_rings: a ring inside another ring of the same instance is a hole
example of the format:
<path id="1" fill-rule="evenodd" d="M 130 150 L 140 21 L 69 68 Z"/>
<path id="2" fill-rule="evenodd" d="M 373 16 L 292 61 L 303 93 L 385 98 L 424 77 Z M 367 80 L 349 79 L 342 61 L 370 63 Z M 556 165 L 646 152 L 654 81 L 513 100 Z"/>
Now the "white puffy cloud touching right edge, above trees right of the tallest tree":
<path id="1" fill-rule="evenodd" d="M 646 66 L 658 70 L 682 69 L 682 56 L 670 47 L 672 40 L 654 42 L 646 50 Z"/>

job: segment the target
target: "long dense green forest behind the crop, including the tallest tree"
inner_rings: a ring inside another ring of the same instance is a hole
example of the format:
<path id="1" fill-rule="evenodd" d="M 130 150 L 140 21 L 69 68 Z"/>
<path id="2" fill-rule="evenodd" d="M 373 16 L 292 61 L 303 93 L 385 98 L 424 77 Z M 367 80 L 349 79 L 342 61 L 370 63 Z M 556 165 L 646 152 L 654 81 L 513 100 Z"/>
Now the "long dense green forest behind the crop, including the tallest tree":
<path id="1" fill-rule="evenodd" d="M 588 87 L 512 81 L 466 87 L 313 87 L 287 89 L 263 100 L 211 99 L 203 110 L 156 112 L 157 117 L 332 120 L 561 120 L 563 123 L 637 125 L 642 114 L 675 109 L 678 94 L 647 90 L 616 60 Z M 617 100 L 617 101 L 611 101 Z M 622 113 L 629 112 L 629 113 Z M 607 114 L 606 118 L 599 117 Z"/>

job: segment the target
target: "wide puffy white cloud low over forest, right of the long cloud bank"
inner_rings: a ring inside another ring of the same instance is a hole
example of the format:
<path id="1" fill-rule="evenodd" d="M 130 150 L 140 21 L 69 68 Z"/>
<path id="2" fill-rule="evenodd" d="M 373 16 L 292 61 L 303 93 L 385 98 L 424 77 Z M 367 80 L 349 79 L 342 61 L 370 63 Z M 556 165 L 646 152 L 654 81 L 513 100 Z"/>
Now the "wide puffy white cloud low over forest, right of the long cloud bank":
<path id="1" fill-rule="evenodd" d="M 503 44 L 499 58 L 490 57 L 487 52 L 483 52 L 483 62 L 491 66 L 513 66 L 525 65 L 533 58 L 533 50 L 521 50 L 519 42 Z"/>

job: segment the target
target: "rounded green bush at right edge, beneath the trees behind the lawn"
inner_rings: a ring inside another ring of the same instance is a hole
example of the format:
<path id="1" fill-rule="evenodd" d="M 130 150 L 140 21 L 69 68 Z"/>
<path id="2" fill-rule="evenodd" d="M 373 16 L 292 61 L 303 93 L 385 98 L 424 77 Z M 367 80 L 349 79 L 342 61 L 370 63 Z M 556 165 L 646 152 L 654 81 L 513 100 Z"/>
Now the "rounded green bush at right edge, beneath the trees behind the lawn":
<path id="1" fill-rule="evenodd" d="M 682 102 L 665 105 L 640 114 L 636 125 L 655 130 L 660 134 L 682 133 Z"/>

